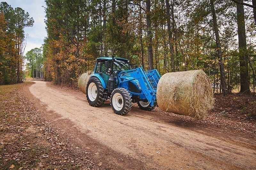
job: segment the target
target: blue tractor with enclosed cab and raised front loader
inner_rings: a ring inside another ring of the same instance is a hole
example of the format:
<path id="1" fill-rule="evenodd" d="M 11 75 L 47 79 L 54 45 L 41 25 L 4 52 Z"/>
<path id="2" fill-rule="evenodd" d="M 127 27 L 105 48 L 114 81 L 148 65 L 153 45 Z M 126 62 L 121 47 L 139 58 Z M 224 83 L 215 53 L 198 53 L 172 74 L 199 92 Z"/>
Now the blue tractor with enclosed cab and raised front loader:
<path id="1" fill-rule="evenodd" d="M 86 86 L 86 98 L 93 106 L 101 106 L 110 99 L 113 111 L 126 115 L 132 103 L 140 109 L 153 110 L 156 105 L 156 88 L 160 79 L 157 70 L 144 71 L 142 67 L 131 69 L 129 60 L 117 57 L 96 59 L 94 73 Z"/>

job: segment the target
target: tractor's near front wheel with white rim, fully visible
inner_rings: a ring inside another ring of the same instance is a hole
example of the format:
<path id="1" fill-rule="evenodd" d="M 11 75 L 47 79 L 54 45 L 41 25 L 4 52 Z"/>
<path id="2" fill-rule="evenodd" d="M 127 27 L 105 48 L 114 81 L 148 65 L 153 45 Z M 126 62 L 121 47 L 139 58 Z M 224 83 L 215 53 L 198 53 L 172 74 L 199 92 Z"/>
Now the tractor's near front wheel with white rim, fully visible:
<path id="1" fill-rule="evenodd" d="M 111 94 L 111 107 L 117 115 L 126 115 L 132 108 L 132 98 L 125 88 L 116 88 Z"/>

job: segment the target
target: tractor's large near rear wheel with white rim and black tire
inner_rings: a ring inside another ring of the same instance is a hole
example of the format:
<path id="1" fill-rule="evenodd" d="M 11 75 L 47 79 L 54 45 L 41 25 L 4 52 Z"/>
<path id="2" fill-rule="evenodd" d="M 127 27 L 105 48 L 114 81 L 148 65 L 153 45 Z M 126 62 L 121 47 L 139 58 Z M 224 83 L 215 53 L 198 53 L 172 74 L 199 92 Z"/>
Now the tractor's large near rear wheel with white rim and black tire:
<path id="1" fill-rule="evenodd" d="M 96 77 L 91 77 L 86 85 L 86 98 L 89 105 L 93 107 L 101 106 L 105 99 L 103 99 L 103 86 L 100 80 Z"/>

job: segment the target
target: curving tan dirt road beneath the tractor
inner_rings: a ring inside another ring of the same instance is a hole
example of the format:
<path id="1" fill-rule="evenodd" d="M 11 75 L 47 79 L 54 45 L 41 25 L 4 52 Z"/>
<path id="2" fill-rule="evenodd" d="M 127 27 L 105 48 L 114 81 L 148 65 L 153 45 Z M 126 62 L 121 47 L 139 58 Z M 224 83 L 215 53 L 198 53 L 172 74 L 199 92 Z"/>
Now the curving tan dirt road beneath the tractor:
<path id="1" fill-rule="evenodd" d="M 145 112 L 134 107 L 127 115 L 116 115 L 108 101 L 101 107 L 91 107 L 84 94 L 58 90 L 46 82 L 36 81 L 29 90 L 46 107 L 46 112 L 52 114 L 50 121 L 67 123 L 77 129 L 79 132 L 74 132 L 73 138 L 80 143 L 92 139 L 105 147 L 105 150 L 88 146 L 87 149 L 118 167 L 256 168 L 255 139 L 230 137 L 207 127 L 181 126 L 179 122 L 168 122 L 154 116 L 154 111 Z M 63 130 L 72 134 L 72 129 Z"/>

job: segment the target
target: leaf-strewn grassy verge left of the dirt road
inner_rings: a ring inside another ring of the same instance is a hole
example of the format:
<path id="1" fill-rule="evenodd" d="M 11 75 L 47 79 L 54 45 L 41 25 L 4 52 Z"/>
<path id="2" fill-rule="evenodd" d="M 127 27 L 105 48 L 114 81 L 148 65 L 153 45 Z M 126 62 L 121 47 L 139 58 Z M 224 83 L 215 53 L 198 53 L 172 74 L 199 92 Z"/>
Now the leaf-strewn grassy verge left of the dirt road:
<path id="1" fill-rule="evenodd" d="M 21 89 L 7 94 L 0 107 L 1 169 L 92 169 L 88 156 L 78 154 L 65 131 L 44 120 Z"/>

